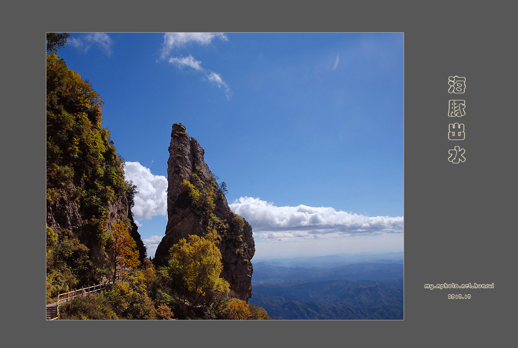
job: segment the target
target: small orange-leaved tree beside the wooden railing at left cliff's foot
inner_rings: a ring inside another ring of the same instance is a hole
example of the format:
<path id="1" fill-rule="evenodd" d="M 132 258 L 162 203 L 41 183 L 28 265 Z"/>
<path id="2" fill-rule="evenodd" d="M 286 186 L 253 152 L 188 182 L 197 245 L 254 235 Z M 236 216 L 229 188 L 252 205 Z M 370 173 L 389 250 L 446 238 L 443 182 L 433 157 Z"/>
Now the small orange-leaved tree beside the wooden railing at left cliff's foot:
<path id="1" fill-rule="evenodd" d="M 117 274 L 126 275 L 126 268 L 136 268 L 138 260 L 137 244 L 131 237 L 126 225 L 121 222 L 114 222 L 111 225 L 111 235 L 107 240 L 107 251 L 111 255 L 113 266 L 113 282 Z"/>

